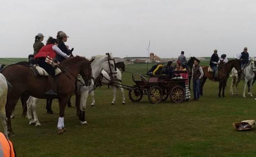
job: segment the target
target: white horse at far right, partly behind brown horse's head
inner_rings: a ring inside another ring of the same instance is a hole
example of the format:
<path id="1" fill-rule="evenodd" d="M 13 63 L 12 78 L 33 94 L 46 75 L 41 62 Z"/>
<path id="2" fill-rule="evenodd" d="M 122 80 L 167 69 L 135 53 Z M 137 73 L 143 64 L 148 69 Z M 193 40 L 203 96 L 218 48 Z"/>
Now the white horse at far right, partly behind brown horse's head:
<path id="1" fill-rule="evenodd" d="M 251 60 L 249 61 L 249 63 L 247 64 L 247 66 L 245 66 L 244 70 L 243 70 L 243 75 L 245 77 L 245 86 L 244 86 L 244 93 L 243 93 L 243 97 L 245 96 L 245 91 L 247 88 L 247 82 L 249 82 L 249 92 L 248 94 L 250 95 L 250 97 L 253 97 L 252 93 L 251 93 L 251 86 L 252 86 L 252 82 L 254 79 L 254 72 L 256 71 L 256 61 L 254 60 L 254 58 L 251 58 Z M 238 95 L 238 91 L 237 91 L 237 86 L 238 86 L 238 72 L 235 68 L 233 68 L 231 70 L 231 75 L 232 75 L 232 81 L 231 81 L 231 86 L 230 86 L 230 91 L 231 94 L 233 95 L 233 89 L 235 88 L 235 94 Z"/>

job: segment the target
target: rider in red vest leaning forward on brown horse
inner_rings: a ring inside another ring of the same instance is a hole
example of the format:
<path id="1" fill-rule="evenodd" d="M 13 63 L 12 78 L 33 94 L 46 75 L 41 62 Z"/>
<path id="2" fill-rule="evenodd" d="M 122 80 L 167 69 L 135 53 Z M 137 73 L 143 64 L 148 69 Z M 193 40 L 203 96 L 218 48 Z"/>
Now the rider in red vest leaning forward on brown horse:
<path id="1" fill-rule="evenodd" d="M 63 53 L 57 46 L 57 40 L 53 37 L 49 37 L 46 42 L 46 46 L 43 46 L 42 49 L 34 56 L 37 60 L 39 66 L 46 70 L 49 74 L 48 83 L 47 83 L 47 91 L 46 94 L 48 95 L 57 95 L 51 88 L 50 88 L 50 79 L 51 77 L 55 77 L 55 70 L 53 66 L 46 62 L 46 57 L 55 58 L 56 55 L 61 55 L 64 58 L 69 58 L 69 55 Z"/>

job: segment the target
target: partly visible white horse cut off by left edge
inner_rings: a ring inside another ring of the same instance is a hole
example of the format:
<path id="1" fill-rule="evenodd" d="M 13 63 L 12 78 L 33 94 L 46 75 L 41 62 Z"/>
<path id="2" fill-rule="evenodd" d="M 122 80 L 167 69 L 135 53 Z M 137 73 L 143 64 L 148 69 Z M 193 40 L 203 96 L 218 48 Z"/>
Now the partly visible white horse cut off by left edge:
<path id="1" fill-rule="evenodd" d="M 2 126 L 5 131 L 5 136 L 8 137 L 7 123 L 6 123 L 6 113 L 5 113 L 5 105 L 7 102 L 8 95 L 8 83 L 5 79 L 4 75 L 0 73 L 0 118 L 2 121 Z"/>

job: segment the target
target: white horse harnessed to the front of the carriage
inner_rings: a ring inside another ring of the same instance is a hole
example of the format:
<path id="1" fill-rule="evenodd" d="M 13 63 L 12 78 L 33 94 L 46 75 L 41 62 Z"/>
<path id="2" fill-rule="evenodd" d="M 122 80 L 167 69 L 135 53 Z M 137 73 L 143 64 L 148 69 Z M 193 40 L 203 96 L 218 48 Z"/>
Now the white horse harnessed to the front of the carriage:
<path id="1" fill-rule="evenodd" d="M 110 84 L 110 76 L 107 74 L 106 71 L 102 71 L 101 72 L 103 74 L 103 79 L 102 79 L 102 84 Z M 117 80 L 114 80 L 112 82 L 116 82 L 118 84 L 113 84 L 114 86 L 110 86 L 110 88 L 112 89 L 112 93 L 113 93 L 113 100 L 111 102 L 111 104 L 113 105 L 115 102 L 116 102 L 116 96 L 117 96 L 117 88 L 119 88 L 119 90 L 121 91 L 122 93 L 122 97 L 123 97 L 123 100 L 122 100 L 122 104 L 125 104 L 125 96 L 124 96 L 124 90 L 122 88 L 122 85 L 121 84 L 121 80 L 122 80 L 122 73 L 119 69 L 117 69 Z M 91 106 L 94 106 L 95 105 L 95 99 L 94 99 L 94 91 L 91 91 Z"/>

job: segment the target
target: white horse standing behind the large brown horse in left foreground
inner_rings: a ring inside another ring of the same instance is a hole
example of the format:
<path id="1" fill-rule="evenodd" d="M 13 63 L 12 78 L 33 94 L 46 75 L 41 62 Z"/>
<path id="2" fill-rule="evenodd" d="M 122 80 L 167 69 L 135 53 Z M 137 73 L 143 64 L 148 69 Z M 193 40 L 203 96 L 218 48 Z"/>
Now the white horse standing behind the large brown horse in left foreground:
<path id="1" fill-rule="evenodd" d="M 92 77 L 94 79 L 96 79 L 101 71 L 104 69 L 105 71 L 107 71 L 108 74 L 112 72 L 116 72 L 114 70 L 114 60 L 112 57 L 112 54 L 107 53 L 106 55 L 96 55 L 91 57 L 91 60 L 93 60 L 93 62 L 91 62 L 91 69 L 92 69 Z M 110 70 L 111 68 L 111 70 Z M 115 74 L 112 74 L 113 77 L 115 77 Z M 83 116 L 85 115 L 85 107 L 86 107 L 86 100 L 87 97 L 89 95 L 89 93 L 92 91 L 92 89 L 94 88 L 94 79 L 91 79 L 91 85 L 90 86 L 80 86 L 78 85 L 78 91 L 80 91 L 80 95 L 81 95 L 81 99 L 80 99 L 80 114 L 82 114 Z M 84 82 L 81 78 L 80 78 L 81 82 Z M 79 83 L 78 83 L 79 84 Z M 38 98 L 35 97 L 29 97 L 29 99 L 27 100 L 27 115 L 28 115 L 28 119 L 29 119 L 29 124 L 34 124 L 36 123 L 36 126 L 40 126 L 40 122 L 39 119 L 37 117 L 37 113 L 36 113 L 36 105 L 38 102 Z M 33 119 L 34 116 L 34 119 Z M 80 115 L 81 116 L 81 115 Z M 85 117 L 85 116 L 84 116 Z M 87 124 L 87 122 L 85 121 L 85 119 L 81 119 L 81 124 Z"/>

